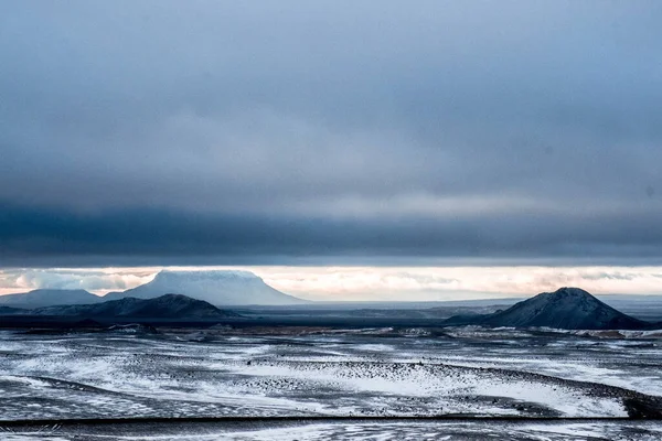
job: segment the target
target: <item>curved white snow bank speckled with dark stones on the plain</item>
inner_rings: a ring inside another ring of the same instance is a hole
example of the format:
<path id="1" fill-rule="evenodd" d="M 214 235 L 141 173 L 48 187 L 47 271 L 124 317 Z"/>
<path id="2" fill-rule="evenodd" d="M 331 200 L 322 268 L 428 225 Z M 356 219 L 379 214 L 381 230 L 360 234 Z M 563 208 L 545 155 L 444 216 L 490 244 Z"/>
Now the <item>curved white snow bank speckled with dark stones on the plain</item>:
<path id="1" fill-rule="evenodd" d="M 246 390 L 260 395 L 289 395 L 299 390 L 334 390 L 345 397 L 382 396 L 434 401 L 425 410 L 385 406 L 388 415 L 481 413 L 520 415 L 542 411 L 566 417 L 627 417 L 624 396 L 602 385 L 566 381 L 499 369 L 419 363 L 291 363 L 254 362 L 241 368 Z M 605 390 L 595 390 L 606 388 Z M 489 398 L 488 398 L 489 397 Z M 385 401 L 387 402 L 387 401 Z M 513 402 L 517 404 L 513 407 Z M 428 402 L 429 404 L 429 402 Z M 374 410 L 357 410 L 370 413 Z"/>

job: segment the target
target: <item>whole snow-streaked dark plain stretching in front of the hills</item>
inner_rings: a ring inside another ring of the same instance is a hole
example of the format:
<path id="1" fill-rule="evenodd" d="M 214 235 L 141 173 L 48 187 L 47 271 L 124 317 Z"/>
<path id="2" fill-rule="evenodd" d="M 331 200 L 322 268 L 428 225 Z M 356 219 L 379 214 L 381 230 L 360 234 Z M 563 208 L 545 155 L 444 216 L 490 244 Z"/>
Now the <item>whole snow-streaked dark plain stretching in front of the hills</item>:
<path id="1" fill-rule="evenodd" d="M 2 331 L 0 419 L 619 418 L 662 409 L 661 345 L 656 334 L 472 327 Z M 444 439 L 447 433 L 448 439 L 484 439 L 490 430 L 499 435 L 509 427 L 519 433 L 513 439 L 555 440 L 580 432 L 585 439 L 660 439 L 661 424 L 317 420 L 285 427 L 244 423 L 232 429 L 232 438 L 314 440 L 331 433 L 337 439 L 406 439 L 417 433 L 412 439 Z M 217 439 L 231 430 L 211 422 L 206 428 L 213 433 L 193 431 L 196 438 L 185 439 Z M 75 434 L 66 424 L 38 435 L 26 434 L 34 428 L 20 430 L 0 438 Z M 150 438 L 153 429 L 148 434 L 136 430 L 125 439 L 157 439 Z M 108 439 L 102 432 L 84 434 L 88 438 L 78 433 L 75 439 Z"/>

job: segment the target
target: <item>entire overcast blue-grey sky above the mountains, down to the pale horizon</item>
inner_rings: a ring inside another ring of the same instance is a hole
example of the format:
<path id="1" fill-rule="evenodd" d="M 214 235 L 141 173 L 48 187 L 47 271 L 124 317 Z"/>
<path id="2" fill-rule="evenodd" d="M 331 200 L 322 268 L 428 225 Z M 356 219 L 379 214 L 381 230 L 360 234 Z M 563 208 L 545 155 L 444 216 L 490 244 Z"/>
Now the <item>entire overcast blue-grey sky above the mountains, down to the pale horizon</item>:
<path id="1" fill-rule="evenodd" d="M 4 284 L 662 271 L 656 0 L 0 7 Z"/>

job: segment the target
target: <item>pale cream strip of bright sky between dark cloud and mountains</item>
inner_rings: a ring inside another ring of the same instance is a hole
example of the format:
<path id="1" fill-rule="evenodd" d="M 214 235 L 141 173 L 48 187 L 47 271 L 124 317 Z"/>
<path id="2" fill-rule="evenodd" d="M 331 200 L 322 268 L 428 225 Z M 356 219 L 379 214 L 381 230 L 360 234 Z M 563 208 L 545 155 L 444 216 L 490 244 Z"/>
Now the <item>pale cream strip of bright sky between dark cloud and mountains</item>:
<path id="1" fill-rule="evenodd" d="M 38 288 L 103 295 L 147 283 L 161 269 L 247 270 L 308 300 L 440 301 L 527 297 L 573 286 L 595 294 L 660 294 L 662 267 L 135 267 L 0 270 L 0 294 Z"/>

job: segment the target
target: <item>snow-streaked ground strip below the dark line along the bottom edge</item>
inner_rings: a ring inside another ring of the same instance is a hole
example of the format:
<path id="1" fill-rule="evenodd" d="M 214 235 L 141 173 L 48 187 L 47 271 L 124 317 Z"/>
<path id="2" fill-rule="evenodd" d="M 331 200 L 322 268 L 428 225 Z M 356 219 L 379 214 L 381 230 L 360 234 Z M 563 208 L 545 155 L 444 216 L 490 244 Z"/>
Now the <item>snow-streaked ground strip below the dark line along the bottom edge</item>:
<path id="1" fill-rule="evenodd" d="M 76 426 L 71 428 L 26 428 L 22 433 L 0 432 L 7 441 L 421 441 L 421 440 L 532 440 L 532 441 L 659 441 L 662 427 L 655 422 L 502 422 L 502 421 L 387 421 L 265 424 L 195 423 Z"/>

